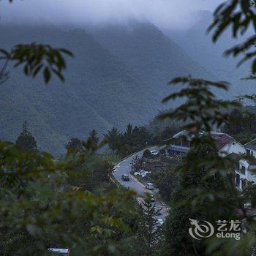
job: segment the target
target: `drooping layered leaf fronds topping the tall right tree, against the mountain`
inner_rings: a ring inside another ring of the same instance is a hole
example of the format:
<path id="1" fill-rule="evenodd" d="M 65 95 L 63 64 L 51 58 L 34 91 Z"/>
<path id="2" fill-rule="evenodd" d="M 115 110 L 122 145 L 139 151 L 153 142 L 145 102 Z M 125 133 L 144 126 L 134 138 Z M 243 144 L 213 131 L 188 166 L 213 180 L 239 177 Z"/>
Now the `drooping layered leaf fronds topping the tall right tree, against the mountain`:
<path id="1" fill-rule="evenodd" d="M 171 86 L 178 84 L 187 84 L 187 87 L 178 92 L 174 92 L 163 99 L 163 102 L 175 100 L 177 98 L 187 100 L 175 110 L 160 115 L 162 119 L 174 118 L 184 123 L 184 129 L 194 129 L 210 132 L 211 127 L 222 127 L 227 120 L 228 113 L 225 113 L 230 107 L 240 106 L 239 102 L 228 102 L 217 99 L 214 89 L 227 91 L 228 84 L 225 82 L 211 82 L 203 79 L 194 79 L 191 77 L 174 78 L 169 83 Z"/>

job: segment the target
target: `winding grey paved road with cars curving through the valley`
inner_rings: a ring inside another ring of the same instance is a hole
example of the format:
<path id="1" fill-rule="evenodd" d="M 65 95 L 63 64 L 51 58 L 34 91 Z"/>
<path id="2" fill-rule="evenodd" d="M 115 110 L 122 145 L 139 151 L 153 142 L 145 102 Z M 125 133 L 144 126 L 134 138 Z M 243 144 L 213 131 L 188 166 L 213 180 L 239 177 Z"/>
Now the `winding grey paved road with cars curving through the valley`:
<path id="1" fill-rule="evenodd" d="M 152 147 L 148 149 L 158 150 L 159 148 Z M 122 162 L 118 163 L 118 165 L 116 165 L 116 167 L 114 168 L 113 176 L 116 178 L 119 184 L 127 188 L 129 187 L 130 189 L 133 189 L 135 192 L 137 192 L 138 200 L 143 200 L 143 198 L 146 196 L 146 193 L 154 194 L 154 197 L 156 199 L 156 201 L 154 202 L 156 208 L 162 208 L 161 215 L 159 215 L 157 219 L 165 219 L 165 217 L 168 215 L 168 208 L 165 203 L 156 196 L 158 189 L 149 191 L 143 184 L 141 184 L 134 176 L 129 173 L 131 170 L 132 159 L 134 159 L 136 156 L 142 157 L 143 151 L 144 150 L 132 154 L 132 156 L 127 157 L 127 159 L 124 159 Z M 129 175 L 129 181 L 123 181 L 121 179 L 121 176 L 123 174 Z"/>

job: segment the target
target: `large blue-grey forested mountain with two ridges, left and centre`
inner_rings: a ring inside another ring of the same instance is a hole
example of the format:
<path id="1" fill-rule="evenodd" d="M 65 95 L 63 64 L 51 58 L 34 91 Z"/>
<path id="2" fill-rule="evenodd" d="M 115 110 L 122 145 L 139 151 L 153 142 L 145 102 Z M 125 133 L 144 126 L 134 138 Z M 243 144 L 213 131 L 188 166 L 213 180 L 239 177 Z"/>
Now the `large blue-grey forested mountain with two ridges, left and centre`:
<path id="1" fill-rule="evenodd" d="M 167 81 L 206 73 L 152 25 L 101 31 L 102 37 L 51 26 L 0 28 L 1 48 L 44 42 L 75 54 L 67 59 L 66 83 L 53 79 L 45 86 L 42 78 L 10 70 L 10 80 L 1 86 L 1 140 L 15 141 L 26 119 L 39 149 L 60 154 L 69 138 L 86 138 L 91 129 L 102 134 L 113 126 L 145 124 L 166 108 L 160 99 L 170 93 Z M 104 39 L 108 33 L 114 45 Z"/>

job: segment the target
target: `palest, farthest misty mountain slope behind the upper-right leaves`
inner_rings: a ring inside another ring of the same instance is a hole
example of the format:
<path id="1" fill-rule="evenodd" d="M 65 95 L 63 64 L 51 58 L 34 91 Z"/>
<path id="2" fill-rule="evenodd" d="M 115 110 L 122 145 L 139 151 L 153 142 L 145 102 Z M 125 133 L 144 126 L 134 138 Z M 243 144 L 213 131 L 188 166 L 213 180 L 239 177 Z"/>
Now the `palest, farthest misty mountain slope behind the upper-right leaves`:
<path id="1" fill-rule="evenodd" d="M 225 50 L 239 43 L 237 39 L 231 39 L 230 31 L 226 31 L 217 43 L 211 41 L 211 33 L 206 30 L 210 26 L 213 16 L 212 12 L 195 12 L 198 23 L 186 30 L 165 31 L 171 39 L 178 43 L 190 58 L 197 61 L 200 66 L 216 75 L 220 80 L 226 80 L 232 84 L 230 87 L 230 97 L 237 94 L 254 93 L 255 81 L 244 81 L 249 75 L 249 64 L 244 64 L 237 68 L 240 58 L 225 57 Z"/>

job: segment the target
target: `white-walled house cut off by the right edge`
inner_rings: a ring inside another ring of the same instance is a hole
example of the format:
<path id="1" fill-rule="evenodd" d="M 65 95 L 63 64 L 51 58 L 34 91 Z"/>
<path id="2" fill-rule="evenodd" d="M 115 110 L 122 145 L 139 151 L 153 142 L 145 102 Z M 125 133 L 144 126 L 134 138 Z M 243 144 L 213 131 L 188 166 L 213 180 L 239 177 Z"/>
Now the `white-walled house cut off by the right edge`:
<path id="1" fill-rule="evenodd" d="M 256 139 L 244 145 L 249 159 L 240 159 L 236 164 L 236 187 L 243 189 L 248 182 L 256 183 Z"/>

